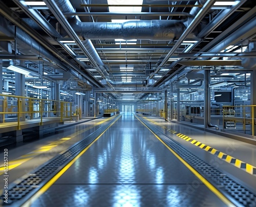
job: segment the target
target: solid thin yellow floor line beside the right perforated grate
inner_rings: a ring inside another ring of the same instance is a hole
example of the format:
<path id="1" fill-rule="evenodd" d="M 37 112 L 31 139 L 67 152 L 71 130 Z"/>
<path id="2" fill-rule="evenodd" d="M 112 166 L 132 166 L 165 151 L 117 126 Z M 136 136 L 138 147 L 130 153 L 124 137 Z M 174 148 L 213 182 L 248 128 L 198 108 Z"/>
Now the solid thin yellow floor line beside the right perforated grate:
<path id="1" fill-rule="evenodd" d="M 137 118 L 137 117 L 136 117 Z M 138 118 L 137 118 L 138 119 Z M 138 119 L 139 120 L 139 119 Z M 140 120 L 139 120 L 140 121 Z M 140 121 L 141 122 L 141 121 Z M 143 122 L 141 122 L 145 127 L 147 127 Z M 147 127 L 148 128 L 148 127 Z M 193 167 L 191 167 L 183 158 L 179 156 L 172 148 L 170 148 L 165 142 L 163 142 L 150 128 L 148 128 L 155 137 L 162 142 L 162 144 L 171 151 L 176 158 L 178 158 L 212 193 L 214 193 L 218 198 L 222 200 L 228 206 L 235 206 L 230 200 L 228 200 L 217 188 L 211 185 L 207 179 L 205 179 L 199 172 L 197 172 Z"/>

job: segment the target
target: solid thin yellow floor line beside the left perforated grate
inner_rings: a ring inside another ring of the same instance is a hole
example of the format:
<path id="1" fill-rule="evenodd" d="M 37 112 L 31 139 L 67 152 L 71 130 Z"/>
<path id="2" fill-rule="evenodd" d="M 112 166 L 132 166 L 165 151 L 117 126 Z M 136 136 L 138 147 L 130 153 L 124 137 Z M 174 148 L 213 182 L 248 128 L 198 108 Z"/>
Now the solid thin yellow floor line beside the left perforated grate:
<path id="1" fill-rule="evenodd" d="M 120 116 L 121 117 L 121 116 Z M 120 118 L 119 117 L 119 118 Z M 29 198 L 22 207 L 30 206 L 37 198 L 44 194 L 55 182 L 56 180 L 64 174 L 74 163 L 75 161 L 82 156 L 119 118 L 117 118 L 104 132 L 102 132 L 91 144 L 84 148 L 75 158 L 73 158 L 66 166 L 64 166 L 56 175 L 53 176 L 44 186 L 42 186 L 31 198 Z"/>

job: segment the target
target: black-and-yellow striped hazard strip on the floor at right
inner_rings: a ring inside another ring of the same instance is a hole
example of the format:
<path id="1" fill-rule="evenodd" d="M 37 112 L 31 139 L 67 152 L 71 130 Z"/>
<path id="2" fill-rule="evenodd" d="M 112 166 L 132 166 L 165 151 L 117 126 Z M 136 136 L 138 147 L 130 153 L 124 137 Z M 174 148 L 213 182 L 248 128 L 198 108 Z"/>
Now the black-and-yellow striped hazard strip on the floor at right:
<path id="1" fill-rule="evenodd" d="M 162 126 L 161 124 L 157 123 L 156 121 L 153 121 L 152 119 L 147 119 L 146 117 L 143 117 L 145 118 L 146 120 L 148 121 L 151 121 L 152 123 L 156 124 L 156 125 L 159 125 L 160 127 L 166 129 L 167 127 L 166 126 Z M 253 165 L 250 165 L 248 163 L 245 163 L 237 158 L 233 158 L 231 156 L 229 156 L 228 154 L 224 153 L 224 152 L 221 152 L 219 151 L 218 149 L 215 149 L 211 146 L 208 146 L 206 144 L 203 144 L 195 139 L 192 139 L 186 135 L 183 135 L 181 133 L 178 133 L 176 132 L 175 130 L 172 130 L 172 129 L 168 129 L 167 130 L 168 132 L 172 133 L 172 134 L 175 134 L 176 136 L 180 137 L 181 139 L 187 141 L 187 142 L 190 142 L 191 144 L 194 144 L 195 146 L 197 147 L 200 147 L 201 149 L 211 153 L 211 154 L 214 154 L 215 156 L 217 156 L 219 159 L 239 168 L 239 169 L 242 169 L 244 170 L 245 172 L 251 174 L 251 175 L 254 175 L 256 176 L 256 167 L 253 166 Z"/>

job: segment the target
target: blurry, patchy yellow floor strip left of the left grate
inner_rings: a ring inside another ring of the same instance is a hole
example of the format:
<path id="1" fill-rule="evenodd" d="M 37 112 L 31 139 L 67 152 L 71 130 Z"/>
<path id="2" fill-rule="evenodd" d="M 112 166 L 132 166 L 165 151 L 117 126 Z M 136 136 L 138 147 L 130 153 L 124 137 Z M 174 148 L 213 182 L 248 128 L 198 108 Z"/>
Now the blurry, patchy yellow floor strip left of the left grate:
<path id="1" fill-rule="evenodd" d="M 110 117 L 110 118 L 107 118 L 107 119 L 104 119 L 103 121 L 100 121 L 96 124 L 94 124 L 93 126 L 89 126 L 87 128 L 84 128 L 83 130 L 79 130 L 75 133 L 73 133 L 72 135 L 70 136 L 67 136 L 67 137 L 64 137 L 64 138 L 61 138 L 59 140 L 56 140 L 54 142 L 51 142 L 50 144 L 47 144 L 45 146 L 42 146 L 42 147 L 39 147 L 38 149 L 35 149 L 27 154 L 24 154 L 23 156 L 13 160 L 13 161 L 9 161 L 9 165 L 8 165 L 8 170 L 12 170 L 13 168 L 15 167 L 18 167 L 19 165 L 22 165 L 23 163 L 33 159 L 34 157 L 38 156 L 38 154 L 41 154 L 41 153 L 44 153 L 44 152 L 47 152 L 51 149 L 53 149 L 54 147 L 57 147 L 59 146 L 60 144 L 88 131 L 88 130 L 91 130 L 92 128 L 94 128 L 95 126 L 97 125 L 100 125 L 106 121 L 109 121 L 110 119 L 113 119 L 113 117 Z M 4 173 L 4 166 L 0 166 L 0 175 L 2 175 Z"/>

